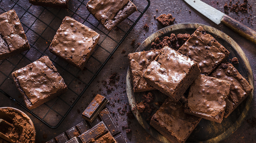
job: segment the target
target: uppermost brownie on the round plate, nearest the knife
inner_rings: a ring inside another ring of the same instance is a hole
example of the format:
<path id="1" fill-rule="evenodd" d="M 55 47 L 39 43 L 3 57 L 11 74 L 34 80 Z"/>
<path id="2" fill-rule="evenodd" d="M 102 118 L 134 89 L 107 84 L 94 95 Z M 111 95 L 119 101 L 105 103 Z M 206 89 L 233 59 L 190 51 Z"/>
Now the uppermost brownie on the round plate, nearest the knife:
<path id="1" fill-rule="evenodd" d="M 229 52 L 200 26 L 178 50 L 198 63 L 201 73 L 209 75 L 229 55 Z"/>

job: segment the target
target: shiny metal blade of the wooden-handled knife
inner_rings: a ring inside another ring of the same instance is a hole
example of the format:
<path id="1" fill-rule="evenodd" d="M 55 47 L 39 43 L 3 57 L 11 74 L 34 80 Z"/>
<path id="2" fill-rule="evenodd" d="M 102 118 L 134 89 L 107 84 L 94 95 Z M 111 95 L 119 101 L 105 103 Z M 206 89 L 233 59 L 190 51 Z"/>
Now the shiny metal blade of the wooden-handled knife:
<path id="1" fill-rule="evenodd" d="M 207 5 L 206 3 L 200 0 L 184 0 L 184 1 L 216 24 L 220 24 L 221 19 L 223 18 L 224 15 L 226 15 L 221 11 Z"/>

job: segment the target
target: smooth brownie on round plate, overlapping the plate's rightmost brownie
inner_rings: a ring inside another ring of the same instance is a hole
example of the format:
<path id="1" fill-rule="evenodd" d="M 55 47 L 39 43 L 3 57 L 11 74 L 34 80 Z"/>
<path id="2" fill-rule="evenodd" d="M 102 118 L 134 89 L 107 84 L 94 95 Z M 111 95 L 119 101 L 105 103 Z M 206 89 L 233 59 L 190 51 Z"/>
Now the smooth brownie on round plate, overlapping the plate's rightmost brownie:
<path id="1" fill-rule="evenodd" d="M 221 123 L 231 84 L 226 80 L 199 75 L 190 86 L 185 113 Z"/>

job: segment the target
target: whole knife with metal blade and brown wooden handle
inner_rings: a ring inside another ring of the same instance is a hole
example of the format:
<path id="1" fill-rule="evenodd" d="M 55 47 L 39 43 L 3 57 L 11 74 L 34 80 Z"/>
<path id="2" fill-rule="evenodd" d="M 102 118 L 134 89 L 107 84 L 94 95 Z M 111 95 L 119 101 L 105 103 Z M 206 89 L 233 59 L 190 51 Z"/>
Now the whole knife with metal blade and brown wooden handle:
<path id="1" fill-rule="evenodd" d="M 227 16 L 223 12 L 207 5 L 206 3 L 200 0 L 184 0 L 187 4 L 189 4 L 192 8 L 195 8 L 197 11 L 202 13 L 208 19 L 213 21 L 216 24 L 220 24 L 221 22 L 245 37 L 246 39 L 252 41 L 256 44 L 256 32 L 244 24 L 234 20 L 233 18 Z"/>

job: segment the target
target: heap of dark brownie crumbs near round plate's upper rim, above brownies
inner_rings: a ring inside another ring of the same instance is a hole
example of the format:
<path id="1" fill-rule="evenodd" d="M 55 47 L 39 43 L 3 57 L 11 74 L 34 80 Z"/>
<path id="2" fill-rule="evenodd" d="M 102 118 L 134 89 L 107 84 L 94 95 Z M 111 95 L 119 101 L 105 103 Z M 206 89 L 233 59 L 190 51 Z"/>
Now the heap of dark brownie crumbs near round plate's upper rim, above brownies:
<path id="1" fill-rule="evenodd" d="M 169 46 L 170 48 L 174 50 L 178 50 L 186 40 L 188 40 L 190 37 L 190 34 L 178 34 L 177 36 L 175 34 L 171 34 L 170 37 L 165 36 L 159 40 L 157 38 L 155 42 L 152 42 L 151 44 L 151 50 L 156 49 L 162 49 L 164 46 Z"/>

